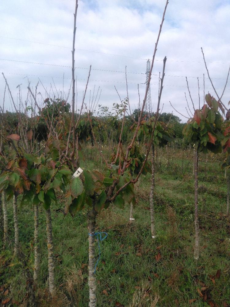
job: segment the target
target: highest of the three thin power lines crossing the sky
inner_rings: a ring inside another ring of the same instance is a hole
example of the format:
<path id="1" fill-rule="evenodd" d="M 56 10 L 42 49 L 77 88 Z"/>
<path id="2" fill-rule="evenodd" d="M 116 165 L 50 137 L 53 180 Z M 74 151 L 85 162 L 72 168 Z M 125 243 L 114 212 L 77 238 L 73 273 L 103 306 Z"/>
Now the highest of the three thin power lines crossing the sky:
<path id="1" fill-rule="evenodd" d="M 2 38 L 7 38 L 7 39 L 12 39 L 12 40 L 17 40 L 17 41 L 25 41 L 25 42 L 34 43 L 34 44 L 40 44 L 40 45 L 47 45 L 47 46 L 53 46 L 53 47 L 59 47 L 59 48 L 72 49 L 71 47 L 67 47 L 67 46 L 48 44 L 48 43 L 37 42 L 37 41 L 29 41 L 29 40 L 20 39 L 20 38 L 15 38 L 15 37 L 7 37 L 7 36 L 2 36 L 2 35 L 0 35 L 0 37 L 2 37 Z M 99 53 L 99 54 L 105 54 L 105 55 L 109 55 L 109 56 L 119 56 L 119 57 L 125 57 L 125 58 L 135 59 L 135 60 L 145 60 L 145 61 L 148 60 L 148 59 L 138 58 L 138 57 L 134 57 L 134 56 L 126 56 L 126 55 L 122 55 L 122 54 L 106 53 L 106 52 L 95 51 L 95 50 L 88 50 L 88 49 L 79 49 L 79 48 L 75 48 L 75 50 L 86 51 L 86 52 L 93 52 L 93 53 Z M 155 59 L 155 61 L 161 61 L 161 62 L 162 62 L 163 60 L 157 60 L 157 59 Z M 167 62 L 203 63 L 203 61 L 181 61 L 181 60 L 167 60 Z M 209 62 L 209 64 L 230 64 L 230 63 L 229 63 L 229 62 Z"/>

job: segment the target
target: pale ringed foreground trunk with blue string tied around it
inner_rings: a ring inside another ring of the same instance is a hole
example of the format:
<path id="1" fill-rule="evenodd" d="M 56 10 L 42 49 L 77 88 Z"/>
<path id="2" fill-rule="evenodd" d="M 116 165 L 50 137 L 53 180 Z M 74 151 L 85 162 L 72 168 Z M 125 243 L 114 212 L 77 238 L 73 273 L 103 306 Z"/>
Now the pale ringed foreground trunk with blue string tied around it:
<path id="1" fill-rule="evenodd" d="M 96 224 L 96 216 L 97 212 L 92 209 L 87 214 L 87 222 L 88 222 L 88 231 L 89 231 L 89 307 L 95 307 L 97 304 L 97 297 L 96 297 L 96 278 L 94 275 L 94 262 L 95 262 L 95 224 Z"/>

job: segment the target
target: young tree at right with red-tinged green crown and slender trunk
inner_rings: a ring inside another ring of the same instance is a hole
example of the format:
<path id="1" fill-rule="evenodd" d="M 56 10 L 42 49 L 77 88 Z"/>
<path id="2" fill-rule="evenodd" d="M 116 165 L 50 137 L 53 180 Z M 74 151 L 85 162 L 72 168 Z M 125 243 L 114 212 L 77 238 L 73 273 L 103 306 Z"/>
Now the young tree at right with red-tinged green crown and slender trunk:
<path id="1" fill-rule="evenodd" d="M 195 144 L 194 157 L 194 226 L 195 226 L 195 246 L 194 258 L 199 258 L 199 220 L 198 220 L 198 161 L 199 153 L 221 153 L 223 140 L 222 123 L 220 115 L 220 103 L 210 94 L 205 96 L 204 104 L 200 110 L 195 110 L 194 117 L 189 119 L 184 127 L 184 135 L 191 138 Z"/>

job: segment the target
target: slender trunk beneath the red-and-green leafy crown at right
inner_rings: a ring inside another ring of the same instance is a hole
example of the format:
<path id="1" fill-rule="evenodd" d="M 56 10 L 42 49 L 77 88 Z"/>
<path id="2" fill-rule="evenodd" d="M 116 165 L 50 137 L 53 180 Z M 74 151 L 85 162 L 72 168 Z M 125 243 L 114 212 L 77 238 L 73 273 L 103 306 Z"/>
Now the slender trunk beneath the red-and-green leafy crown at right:
<path id="1" fill-rule="evenodd" d="M 194 182 L 195 182 L 195 210 L 194 210 L 194 224 L 195 224 L 195 247 L 194 247 L 194 258 L 199 258 L 199 221 L 198 221 L 198 150 L 194 151 Z"/>

